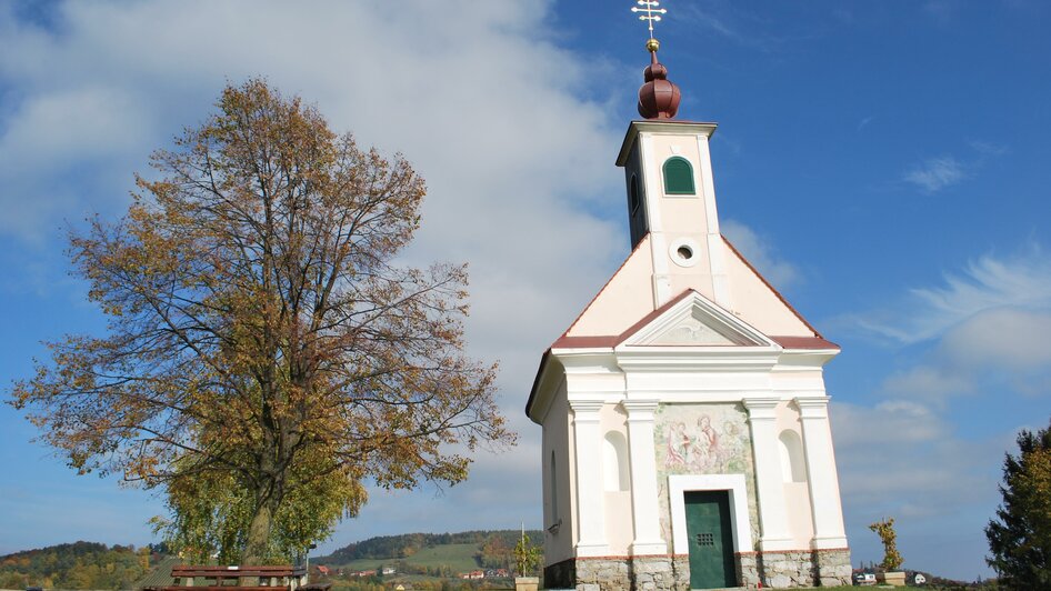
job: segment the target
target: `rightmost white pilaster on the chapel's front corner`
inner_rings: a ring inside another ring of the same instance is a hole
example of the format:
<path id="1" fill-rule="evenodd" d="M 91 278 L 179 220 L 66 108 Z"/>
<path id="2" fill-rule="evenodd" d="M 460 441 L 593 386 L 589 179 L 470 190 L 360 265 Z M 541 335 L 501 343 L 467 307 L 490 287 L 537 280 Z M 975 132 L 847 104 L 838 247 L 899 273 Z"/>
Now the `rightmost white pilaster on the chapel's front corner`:
<path id="1" fill-rule="evenodd" d="M 810 512 L 813 515 L 814 550 L 847 548 L 839 475 L 829 427 L 829 397 L 797 398 L 803 423 L 803 451 L 810 474 Z"/>

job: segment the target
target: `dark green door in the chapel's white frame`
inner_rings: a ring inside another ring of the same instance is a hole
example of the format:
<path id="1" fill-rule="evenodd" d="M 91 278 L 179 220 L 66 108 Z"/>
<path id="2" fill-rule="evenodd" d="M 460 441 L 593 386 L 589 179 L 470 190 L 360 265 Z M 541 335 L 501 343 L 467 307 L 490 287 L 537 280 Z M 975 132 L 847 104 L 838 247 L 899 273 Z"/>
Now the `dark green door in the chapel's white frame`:
<path id="1" fill-rule="evenodd" d="M 737 587 L 729 491 L 685 493 L 687 534 L 690 537 L 690 587 Z"/>

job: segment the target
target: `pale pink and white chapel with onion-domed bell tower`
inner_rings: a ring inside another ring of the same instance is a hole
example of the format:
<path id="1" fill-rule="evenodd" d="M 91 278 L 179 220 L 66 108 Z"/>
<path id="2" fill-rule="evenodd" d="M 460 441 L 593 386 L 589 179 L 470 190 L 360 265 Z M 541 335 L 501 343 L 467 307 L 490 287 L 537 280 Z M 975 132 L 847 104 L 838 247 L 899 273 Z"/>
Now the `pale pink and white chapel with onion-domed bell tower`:
<path id="1" fill-rule="evenodd" d="M 631 253 L 543 354 L 549 589 L 850 584 L 822 368 L 839 352 L 719 231 L 714 123 L 651 64 L 617 156 Z"/>

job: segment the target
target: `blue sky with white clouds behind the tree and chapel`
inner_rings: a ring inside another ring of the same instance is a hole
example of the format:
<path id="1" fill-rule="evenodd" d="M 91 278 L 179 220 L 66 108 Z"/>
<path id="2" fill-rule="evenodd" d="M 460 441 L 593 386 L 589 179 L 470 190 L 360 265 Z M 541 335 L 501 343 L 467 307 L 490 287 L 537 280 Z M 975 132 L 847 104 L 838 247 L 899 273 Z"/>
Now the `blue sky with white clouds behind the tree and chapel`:
<path id="1" fill-rule="evenodd" d="M 842 354 L 827 368 L 854 562 L 895 517 L 908 568 L 988 575 L 1005 451 L 1051 409 L 1051 6 L 667 0 L 680 118 L 717 121 L 723 230 Z M 407 260 L 471 264 L 471 349 L 501 361 L 521 443 L 467 483 L 373 491 L 322 550 L 539 525 L 540 353 L 628 252 L 613 166 L 647 63 L 631 2 L 0 4 L 0 382 L 99 332 L 66 231 L 267 76 L 430 188 Z M 76 477 L 0 408 L 0 553 L 142 544 L 162 511 Z"/>

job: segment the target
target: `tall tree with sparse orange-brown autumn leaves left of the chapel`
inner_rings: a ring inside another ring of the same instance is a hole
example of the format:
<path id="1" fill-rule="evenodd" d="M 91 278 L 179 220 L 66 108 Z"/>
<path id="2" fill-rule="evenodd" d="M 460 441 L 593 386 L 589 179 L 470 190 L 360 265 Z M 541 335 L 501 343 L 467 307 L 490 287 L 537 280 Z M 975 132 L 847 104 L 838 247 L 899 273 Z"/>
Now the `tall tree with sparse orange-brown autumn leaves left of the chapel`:
<path id="1" fill-rule="evenodd" d="M 163 490 L 184 548 L 288 560 L 368 480 L 456 483 L 513 434 L 463 352 L 464 267 L 397 261 L 424 196 L 409 162 L 261 80 L 217 107 L 126 217 L 71 233 L 107 333 L 48 343 L 12 401 L 80 472 Z"/>

